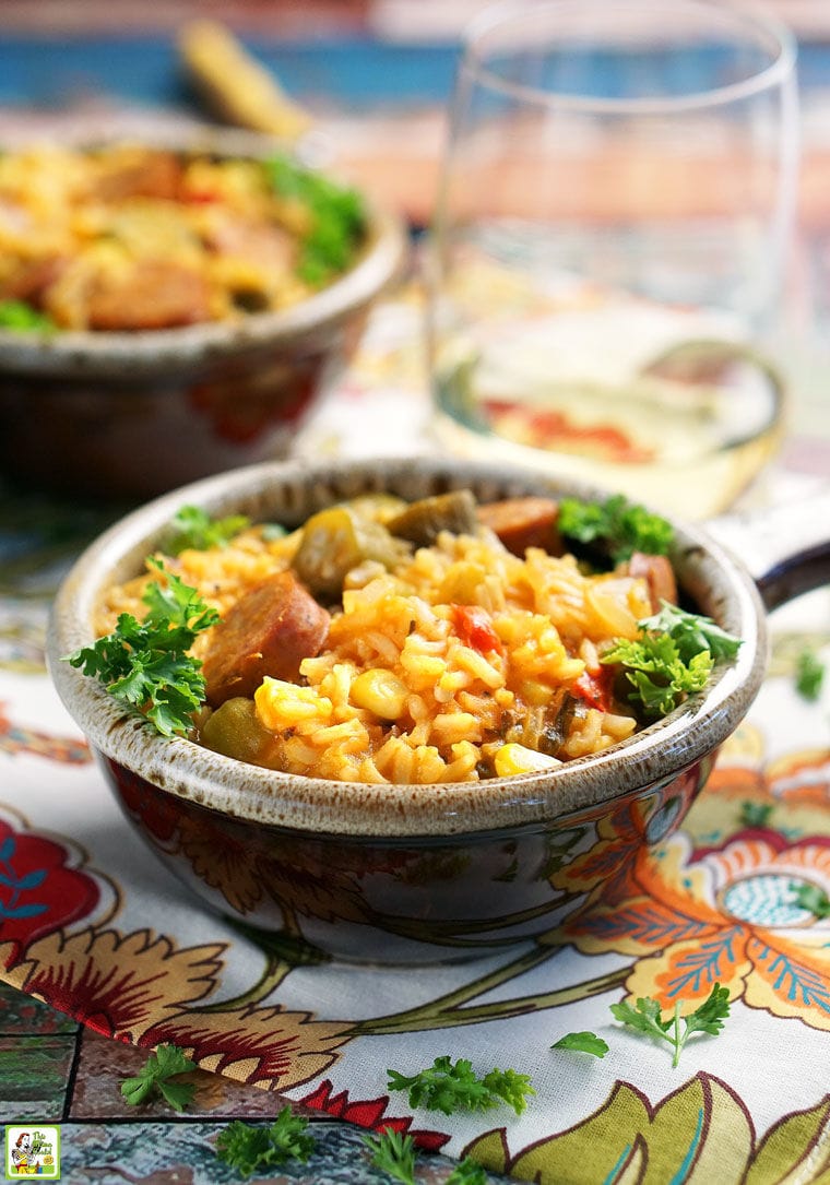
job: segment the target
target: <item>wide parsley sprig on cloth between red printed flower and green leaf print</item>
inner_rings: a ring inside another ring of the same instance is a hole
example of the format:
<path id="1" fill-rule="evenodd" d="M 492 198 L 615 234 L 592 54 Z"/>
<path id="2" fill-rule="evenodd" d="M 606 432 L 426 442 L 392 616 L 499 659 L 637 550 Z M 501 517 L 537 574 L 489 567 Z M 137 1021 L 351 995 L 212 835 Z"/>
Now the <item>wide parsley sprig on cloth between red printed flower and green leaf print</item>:
<path id="1" fill-rule="evenodd" d="M 424 1107 L 452 1115 L 456 1110 L 487 1110 L 507 1103 L 517 1115 L 528 1106 L 529 1095 L 536 1091 L 526 1074 L 516 1070 L 490 1070 L 483 1078 L 473 1071 L 472 1062 L 460 1057 L 455 1063 L 448 1055 L 436 1057 L 426 1070 L 404 1075 L 387 1070 L 389 1090 L 408 1090 L 410 1107 Z"/>

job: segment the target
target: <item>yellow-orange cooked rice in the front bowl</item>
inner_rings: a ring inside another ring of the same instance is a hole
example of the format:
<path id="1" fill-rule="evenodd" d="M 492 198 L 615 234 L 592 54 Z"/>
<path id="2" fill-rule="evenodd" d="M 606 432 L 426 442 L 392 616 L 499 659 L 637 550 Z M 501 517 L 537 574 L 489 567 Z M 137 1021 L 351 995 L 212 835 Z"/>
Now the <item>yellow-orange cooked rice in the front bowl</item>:
<path id="1" fill-rule="evenodd" d="M 250 529 L 224 549 L 185 551 L 166 563 L 223 613 L 263 576 L 288 566 L 295 546 L 295 536 L 266 540 Z M 279 768 L 351 782 L 492 776 L 499 750 L 526 743 L 563 688 L 599 670 L 604 643 L 634 638 L 651 611 L 641 578 L 586 575 L 573 556 L 538 549 L 521 559 L 486 530 L 475 538 L 442 533 L 391 571 L 366 565 L 363 575 L 333 611 L 325 649 L 304 659 L 302 683 L 266 678 L 255 694 Z M 121 611 L 141 615 L 145 579 L 111 590 L 102 633 Z M 500 651 L 465 645 L 454 626 L 459 603 L 487 610 Z M 210 641 L 208 632 L 196 652 L 204 655 Z M 389 687 L 403 685 L 403 707 L 395 715 L 396 703 L 391 718 L 360 706 L 365 694 L 355 686 L 378 670 L 394 677 Z M 598 752 L 636 726 L 631 715 L 586 706 L 569 718 L 557 756 Z"/>

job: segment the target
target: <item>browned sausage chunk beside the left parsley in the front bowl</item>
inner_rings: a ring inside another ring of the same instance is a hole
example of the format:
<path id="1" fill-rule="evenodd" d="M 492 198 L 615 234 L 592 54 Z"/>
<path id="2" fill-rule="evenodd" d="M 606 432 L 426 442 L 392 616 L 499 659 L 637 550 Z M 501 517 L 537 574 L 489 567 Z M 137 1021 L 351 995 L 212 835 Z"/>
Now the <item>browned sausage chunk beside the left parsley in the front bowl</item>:
<path id="1" fill-rule="evenodd" d="M 208 703 L 251 697 L 269 674 L 296 679 L 300 662 L 319 654 L 328 638 L 328 613 L 293 572 L 261 581 L 213 627 L 204 660 Z"/>

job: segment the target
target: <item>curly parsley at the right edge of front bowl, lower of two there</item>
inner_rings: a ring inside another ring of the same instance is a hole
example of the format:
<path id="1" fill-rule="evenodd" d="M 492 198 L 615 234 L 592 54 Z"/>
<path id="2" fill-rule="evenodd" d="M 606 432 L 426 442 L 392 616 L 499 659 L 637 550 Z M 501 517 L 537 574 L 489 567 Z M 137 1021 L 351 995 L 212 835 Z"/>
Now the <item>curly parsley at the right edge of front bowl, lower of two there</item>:
<path id="1" fill-rule="evenodd" d="M 630 703 L 649 718 L 665 716 L 682 699 L 706 687 L 711 668 L 734 658 L 741 640 L 711 617 L 663 602 L 659 613 L 638 622 L 640 638 L 618 639 L 600 661 L 618 664 L 633 687 Z"/>

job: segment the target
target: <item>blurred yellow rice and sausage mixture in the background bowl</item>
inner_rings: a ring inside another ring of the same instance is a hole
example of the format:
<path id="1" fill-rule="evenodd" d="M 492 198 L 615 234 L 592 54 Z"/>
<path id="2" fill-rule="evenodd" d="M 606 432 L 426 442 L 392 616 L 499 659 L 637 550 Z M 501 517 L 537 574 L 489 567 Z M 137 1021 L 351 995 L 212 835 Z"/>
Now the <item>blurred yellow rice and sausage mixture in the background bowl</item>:
<path id="1" fill-rule="evenodd" d="M 281 309 L 315 287 L 296 274 L 309 218 L 254 160 L 34 145 L 0 158 L 0 297 L 33 302 L 65 329 Z M 171 287 L 180 295 L 161 313 Z"/>

